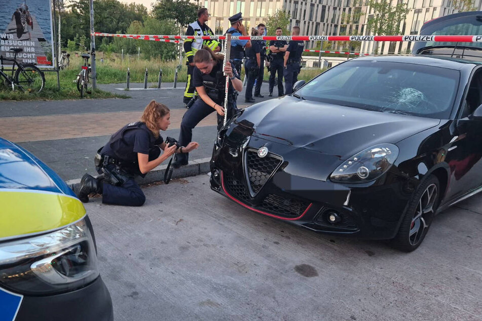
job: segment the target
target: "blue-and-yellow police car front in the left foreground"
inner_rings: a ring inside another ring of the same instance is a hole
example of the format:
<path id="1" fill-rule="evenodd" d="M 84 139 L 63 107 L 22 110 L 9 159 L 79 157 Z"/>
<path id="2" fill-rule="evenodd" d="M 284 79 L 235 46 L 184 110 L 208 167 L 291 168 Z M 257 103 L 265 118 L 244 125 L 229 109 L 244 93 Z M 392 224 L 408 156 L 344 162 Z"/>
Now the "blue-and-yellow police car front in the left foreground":
<path id="1" fill-rule="evenodd" d="M 112 320 L 80 200 L 22 147 L 0 138 L 0 320 Z"/>

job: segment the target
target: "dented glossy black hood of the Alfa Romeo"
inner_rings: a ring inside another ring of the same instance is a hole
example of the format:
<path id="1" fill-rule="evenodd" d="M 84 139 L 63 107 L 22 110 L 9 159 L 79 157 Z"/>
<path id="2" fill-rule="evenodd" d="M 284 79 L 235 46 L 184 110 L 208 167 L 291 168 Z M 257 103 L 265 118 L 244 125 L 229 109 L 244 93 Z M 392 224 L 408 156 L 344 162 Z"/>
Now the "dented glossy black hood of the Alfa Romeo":
<path id="1" fill-rule="evenodd" d="M 252 124 L 253 136 L 342 159 L 378 143 L 395 144 L 440 123 L 440 119 L 369 111 L 291 96 L 255 104 L 245 109 L 237 121 Z"/>

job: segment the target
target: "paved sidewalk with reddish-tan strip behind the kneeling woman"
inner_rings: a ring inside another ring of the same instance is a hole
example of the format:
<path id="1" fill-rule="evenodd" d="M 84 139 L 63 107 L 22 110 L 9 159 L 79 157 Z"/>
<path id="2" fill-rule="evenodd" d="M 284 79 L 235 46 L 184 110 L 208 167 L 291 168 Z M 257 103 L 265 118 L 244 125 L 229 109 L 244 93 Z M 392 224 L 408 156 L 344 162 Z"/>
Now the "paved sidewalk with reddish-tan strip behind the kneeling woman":
<path id="1" fill-rule="evenodd" d="M 85 173 L 96 174 L 93 157 L 110 135 L 119 128 L 137 121 L 145 106 L 153 99 L 171 109 L 171 125 L 163 137 L 179 137 L 179 126 L 186 112 L 182 103 L 186 83 L 163 83 L 162 90 L 119 91 L 125 84 L 99 85 L 99 88 L 130 95 L 128 99 L 72 99 L 62 101 L 0 101 L 0 137 L 18 143 L 31 151 L 66 181 L 80 179 Z M 131 84 L 131 87 L 142 84 Z M 262 93 L 267 100 L 268 84 Z M 244 93 L 238 97 L 244 108 Z M 216 136 L 216 115 L 213 112 L 193 131 L 193 140 L 200 147 L 190 159 L 211 156 Z M 187 172 L 190 172 L 188 170 Z"/>

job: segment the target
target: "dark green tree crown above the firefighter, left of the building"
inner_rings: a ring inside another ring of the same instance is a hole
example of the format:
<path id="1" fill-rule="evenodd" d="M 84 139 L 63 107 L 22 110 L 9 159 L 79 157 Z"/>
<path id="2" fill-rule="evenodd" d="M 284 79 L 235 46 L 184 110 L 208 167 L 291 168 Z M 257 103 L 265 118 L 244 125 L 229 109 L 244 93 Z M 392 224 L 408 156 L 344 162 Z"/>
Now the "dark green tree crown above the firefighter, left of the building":
<path id="1" fill-rule="evenodd" d="M 187 27 L 198 19 L 200 5 L 189 0 L 157 0 L 153 5 L 153 16 L 157 20 L 173 20 L 182 27 Z"/>

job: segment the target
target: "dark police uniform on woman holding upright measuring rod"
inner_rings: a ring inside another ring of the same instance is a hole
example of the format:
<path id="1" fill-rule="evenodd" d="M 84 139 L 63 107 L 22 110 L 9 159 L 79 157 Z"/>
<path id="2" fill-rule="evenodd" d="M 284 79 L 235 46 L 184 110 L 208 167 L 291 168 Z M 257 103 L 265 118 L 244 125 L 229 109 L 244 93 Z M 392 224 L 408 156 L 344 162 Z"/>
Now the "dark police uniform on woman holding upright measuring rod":
<path id="1" fill-rule="evenodd" d="M 231 62 L 232 63 L 232 62 Z M 233 68 L 233 76 L 240 79 L 238 70 Z M 218 105 L 223 106 L 225 101 L 226 91 L 226 76 L 223 74 L 223 61 L 218 63 L 212 68 L 209 74 L 202 73 L 197 67 L 193 71 L 193 84 L 194 87 L 204 86 L 206 94 Z M 237 92 L 233 88 L 231 81 L 228 87 L 228 106 L 225 107 L 225 112 L 228 112 L 228 119 L 232 117 L 238 108 L 236 107 Z M 179 144 L 182 146 L 188 146 L 193 138 L 193 129 L 202 121 L 207 115 L 212 112 L 216 112 L 214 108 L 206 104 L 200 97 L 196 99 L 196 102 L 191 108 L 184 113 L 182 117 L 180 132 L 179 132 Z M 217 112 L 216 112 L 217 113 Z M 223 127 L 224 116 L 217 114 L 217 130 Z M 174 167 L 188 164 L 189 153 L 176 154 L 176 161 Z"/>

